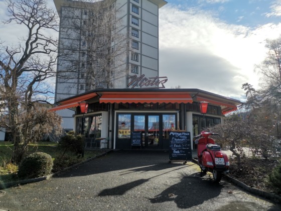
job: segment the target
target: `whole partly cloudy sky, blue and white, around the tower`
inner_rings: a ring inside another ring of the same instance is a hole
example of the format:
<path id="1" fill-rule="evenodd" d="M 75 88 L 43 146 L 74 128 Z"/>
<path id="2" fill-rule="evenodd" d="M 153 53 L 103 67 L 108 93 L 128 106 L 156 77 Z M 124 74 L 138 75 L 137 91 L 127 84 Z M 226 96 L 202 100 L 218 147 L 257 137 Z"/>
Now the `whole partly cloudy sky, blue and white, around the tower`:
<path id="1" fill-rule="evenodd" d="M 244 100 L 243 83 L 259 88 L 254 66 L 266 39 L 281 34 L 281 0 L 166 0 L 159 10 L 159 76 L 166 88 L 199 88 Z M 53 0 L 48 0 L 55 8 Z M 0 0 L 0 20 L 5 17 Z M 0 25 L 2 40 L 24 33 Z"/>

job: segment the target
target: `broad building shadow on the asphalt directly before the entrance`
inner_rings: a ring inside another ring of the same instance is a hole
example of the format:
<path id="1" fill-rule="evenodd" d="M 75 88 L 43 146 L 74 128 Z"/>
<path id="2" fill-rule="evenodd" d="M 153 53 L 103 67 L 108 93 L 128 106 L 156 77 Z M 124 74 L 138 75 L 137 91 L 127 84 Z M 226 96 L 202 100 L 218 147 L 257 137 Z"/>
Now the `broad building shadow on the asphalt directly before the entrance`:
<path id="1" fill-rule="evenodd" d="M 85 176 L 123 170 L 118 172 L 119 175 L 122 175 L 133 172 L 160 171 L 176 166 L 187 167 L 182 163 L 169 163 L 169 152 L 121 150 L 110 152 L 54 177 Z"/>

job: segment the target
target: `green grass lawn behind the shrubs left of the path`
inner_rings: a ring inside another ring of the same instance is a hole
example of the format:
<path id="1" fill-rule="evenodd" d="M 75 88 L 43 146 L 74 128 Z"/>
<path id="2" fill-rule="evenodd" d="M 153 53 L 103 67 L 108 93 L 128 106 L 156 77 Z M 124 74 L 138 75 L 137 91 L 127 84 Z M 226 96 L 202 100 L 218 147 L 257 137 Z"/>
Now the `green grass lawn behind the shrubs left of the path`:
<path id="1" fill-rule="evenodd" d="M 45 152 L 51 155 L 52 158 L 56 159 L 61 154 L 57 146 L 58 144 L 53 142 L 39 142 L 38 144 L 30 144 L 28 154 L 31 154 L 33 152 Z M 13 148 L 14 146 L 11 142 L 0 142 L 0 182 L 10 182 L 16 179 L 18 166 L 8 164 L 12 157 Z M 104 151 L 85 150 L 84 157 L 77 159 L 77 162 L 82 162 L 102 153 L 104 153 Z M 76 157 L 77 156 L 73 154 L 73 158 L 75 159 Z"/>

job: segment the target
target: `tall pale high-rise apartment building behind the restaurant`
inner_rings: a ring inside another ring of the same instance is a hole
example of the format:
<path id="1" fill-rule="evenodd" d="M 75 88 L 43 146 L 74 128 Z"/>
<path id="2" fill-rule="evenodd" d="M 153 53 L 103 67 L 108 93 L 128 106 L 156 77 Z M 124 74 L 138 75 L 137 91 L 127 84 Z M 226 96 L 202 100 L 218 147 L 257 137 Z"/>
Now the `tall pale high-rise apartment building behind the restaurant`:
<path id="1" fill-rule="evenodd" d="M 159 76 L 164 0 L 54 0 L 60 17 L 55 101 L 96 88 L 130 88 Z"/>

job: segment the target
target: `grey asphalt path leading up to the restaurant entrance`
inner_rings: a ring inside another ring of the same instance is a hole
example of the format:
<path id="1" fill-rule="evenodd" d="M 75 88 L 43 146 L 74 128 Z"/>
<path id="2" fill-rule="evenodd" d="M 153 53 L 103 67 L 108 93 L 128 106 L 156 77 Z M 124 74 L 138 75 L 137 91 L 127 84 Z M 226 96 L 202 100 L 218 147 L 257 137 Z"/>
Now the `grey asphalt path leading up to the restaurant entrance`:
<path id="1" fill-rule="evenodd" d="M 0 210 L 281 210 L 168 152 L 114 151 L 49 180 L 5 189 Z"/>

